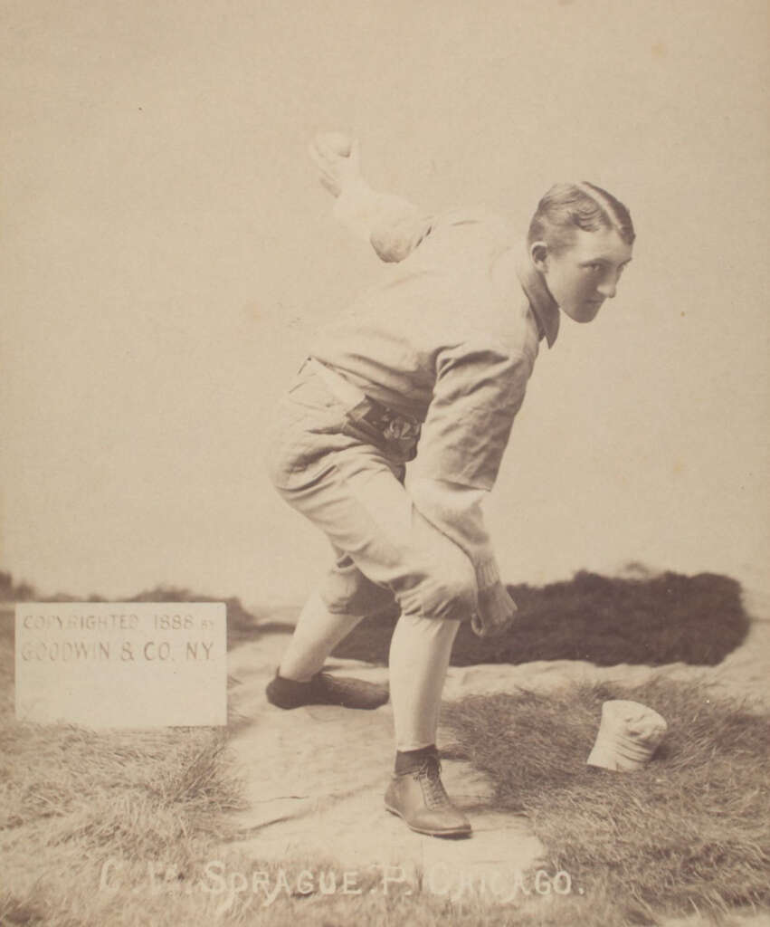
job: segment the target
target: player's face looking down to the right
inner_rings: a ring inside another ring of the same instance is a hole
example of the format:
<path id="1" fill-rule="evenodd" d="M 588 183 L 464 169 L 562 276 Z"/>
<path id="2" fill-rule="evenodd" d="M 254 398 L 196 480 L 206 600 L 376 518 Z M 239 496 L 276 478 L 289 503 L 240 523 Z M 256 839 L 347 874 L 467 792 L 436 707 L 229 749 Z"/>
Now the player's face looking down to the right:
<path id="1" fill-rule="evenodd" d="M 574 322 L 591 322 L 605 299 L 612 299 L 632 246 L 614 229 L 575 229 L 572 242 L 555 254 L 545 245 L 532 246 L 537 269 L 550 295 Z"/>

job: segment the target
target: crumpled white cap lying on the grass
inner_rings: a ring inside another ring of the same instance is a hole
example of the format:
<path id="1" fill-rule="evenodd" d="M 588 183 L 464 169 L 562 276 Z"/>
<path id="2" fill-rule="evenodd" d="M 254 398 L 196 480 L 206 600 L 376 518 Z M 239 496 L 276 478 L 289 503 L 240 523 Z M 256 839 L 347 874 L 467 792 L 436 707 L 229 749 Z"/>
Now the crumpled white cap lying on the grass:
<path id="1" fill-rule="evenodd" d="M 657 711 L 638 702 L 613 700 L 601 706 L 601 724 L 588 766 L 627 772 L 650 762 L 668 725 Z"/>

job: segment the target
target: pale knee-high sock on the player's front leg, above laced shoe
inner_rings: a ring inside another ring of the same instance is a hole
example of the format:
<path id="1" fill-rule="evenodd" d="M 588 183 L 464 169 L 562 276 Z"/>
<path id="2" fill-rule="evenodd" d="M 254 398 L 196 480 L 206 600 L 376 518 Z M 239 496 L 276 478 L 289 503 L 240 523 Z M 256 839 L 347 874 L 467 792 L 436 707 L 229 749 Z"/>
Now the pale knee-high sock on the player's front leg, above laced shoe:
<path id="1" fill-rule="evenodd" d="M 402 615 L 390 641 L 390 702 L 398 750 L 435 743 L 441 692 L 459 621 Z"/>

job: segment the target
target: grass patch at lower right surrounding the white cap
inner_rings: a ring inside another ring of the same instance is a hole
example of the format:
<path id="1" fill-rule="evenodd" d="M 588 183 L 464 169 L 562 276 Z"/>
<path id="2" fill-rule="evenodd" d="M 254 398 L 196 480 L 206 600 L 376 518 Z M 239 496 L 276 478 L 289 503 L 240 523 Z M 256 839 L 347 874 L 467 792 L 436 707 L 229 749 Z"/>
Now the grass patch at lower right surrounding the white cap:
<path id="1" fill-rule="evenodd" d="M 650 705 L 669 724 L 634 773 L 585 763 L 611 698 Z M 530 819 L 551 865 L 609 904 L 613 923 L 770 905 L 767 715 L 659 680 L 474 696 L 444 720 L 454 755 L 486 773 L 497 806 Z"/>

